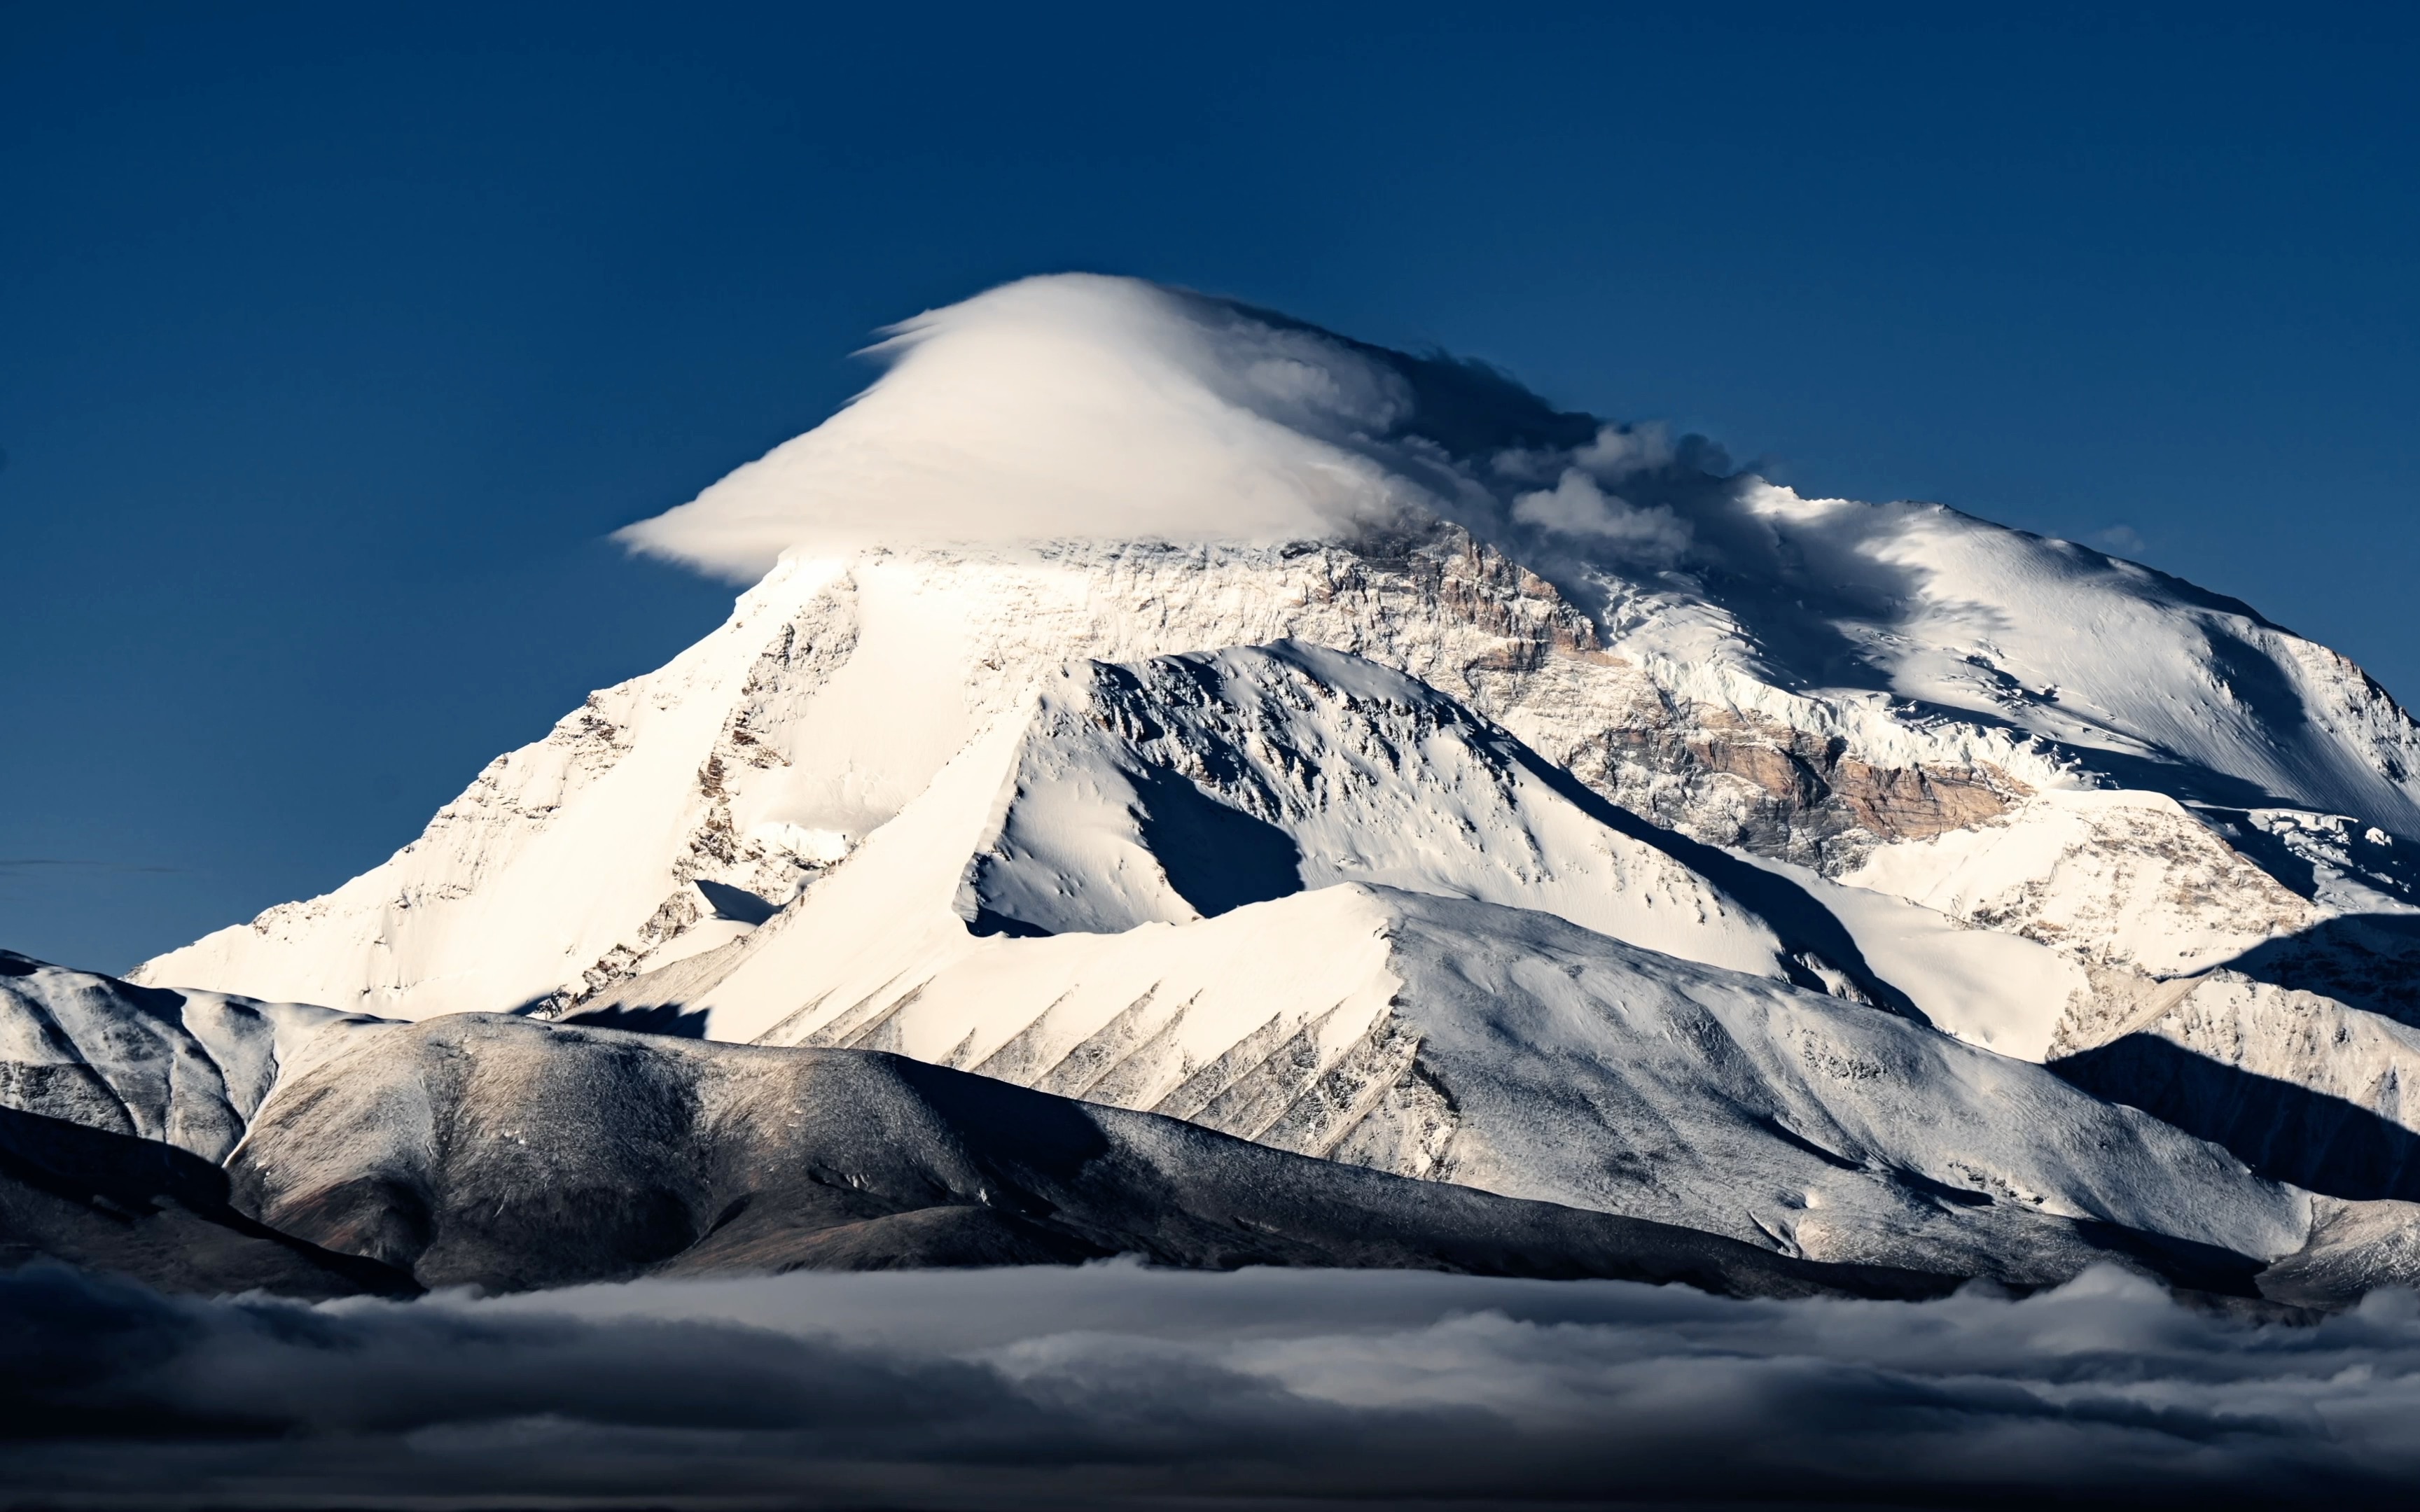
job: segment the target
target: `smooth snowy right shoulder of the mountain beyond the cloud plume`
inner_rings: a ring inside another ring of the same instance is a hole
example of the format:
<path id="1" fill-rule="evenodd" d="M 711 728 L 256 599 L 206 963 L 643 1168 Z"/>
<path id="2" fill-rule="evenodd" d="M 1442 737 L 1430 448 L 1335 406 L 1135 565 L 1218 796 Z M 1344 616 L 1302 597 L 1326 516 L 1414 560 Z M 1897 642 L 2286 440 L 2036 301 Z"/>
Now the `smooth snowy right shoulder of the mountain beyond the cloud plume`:
<path id="1" fill-rule="evenodd" d="M 1614 648 L 1825 689 L 1868 719 L 1863 689 L 1897 704 L 1885 719 L 2018 728 L 2122 786 L 2420 827 L 2413 721 L 2246 605 L 1941 506 L 1745 484 L 1704 523 L 1721 535 L 1692 581 L 1612 593 Z"/>

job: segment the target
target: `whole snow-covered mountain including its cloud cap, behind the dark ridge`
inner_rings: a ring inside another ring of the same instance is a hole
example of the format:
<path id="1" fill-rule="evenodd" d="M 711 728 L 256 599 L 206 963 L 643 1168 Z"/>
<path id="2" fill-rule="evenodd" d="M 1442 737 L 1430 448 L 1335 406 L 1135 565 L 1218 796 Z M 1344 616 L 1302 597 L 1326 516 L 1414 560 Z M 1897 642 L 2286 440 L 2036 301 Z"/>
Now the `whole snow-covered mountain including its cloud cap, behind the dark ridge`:
<path id="1" fill-rule="evenodd" d="M 898 1050 L 1931 1270 L 2420 1195 L 2241 1096 L 2420 1130 L 2420 726 L 2343 656 L 1130 281 L 883 351 L 627 532 L 753 583 L 721 629 L 136 980 Z"/>

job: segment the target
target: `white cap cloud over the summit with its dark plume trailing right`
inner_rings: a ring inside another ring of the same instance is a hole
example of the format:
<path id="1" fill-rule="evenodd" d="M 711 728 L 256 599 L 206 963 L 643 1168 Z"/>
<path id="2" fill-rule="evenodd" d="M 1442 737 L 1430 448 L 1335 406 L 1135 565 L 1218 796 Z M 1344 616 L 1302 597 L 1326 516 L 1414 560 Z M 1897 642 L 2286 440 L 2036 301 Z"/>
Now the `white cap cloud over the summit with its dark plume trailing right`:
<path id="1" fill-rule="evenodd" d="M 1716 457 L 1561 414 L 1476 363 L 1133 278 L 1009 283 L 893 327 L 874 356 L 888 370 L 847 409 L 620 539 L 748 581 L 791 549 L 1285 542 L 1442 515 L 1665 564 L 1687 523 L 1597 484 Z"/>

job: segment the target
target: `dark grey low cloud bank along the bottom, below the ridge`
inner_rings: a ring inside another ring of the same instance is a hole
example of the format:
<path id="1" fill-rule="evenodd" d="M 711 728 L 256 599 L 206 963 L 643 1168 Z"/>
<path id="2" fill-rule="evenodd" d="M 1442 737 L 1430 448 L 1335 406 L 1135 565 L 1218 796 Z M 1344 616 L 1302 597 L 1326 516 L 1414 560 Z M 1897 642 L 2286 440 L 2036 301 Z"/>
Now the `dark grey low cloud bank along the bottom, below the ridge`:
<path id="1" fill-rule="evenodd" d="M 1135 1265 L 414 1304 L 0 1275 L 0 1483 L 131 1505 L 2384 1505 L 2420 1302 Z"/>

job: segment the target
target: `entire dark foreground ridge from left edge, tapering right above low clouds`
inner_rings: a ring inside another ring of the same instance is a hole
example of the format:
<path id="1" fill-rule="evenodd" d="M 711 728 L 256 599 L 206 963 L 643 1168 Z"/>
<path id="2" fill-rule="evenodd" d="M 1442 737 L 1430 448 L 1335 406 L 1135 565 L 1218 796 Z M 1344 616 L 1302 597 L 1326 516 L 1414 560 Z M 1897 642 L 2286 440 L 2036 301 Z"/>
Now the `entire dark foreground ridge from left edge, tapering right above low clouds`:
<path id="1" fill-rule="evenodd" d="M 1934 1297 L 1648 1219 L 1251 1144 L 874 1050 L 143 989 L 0 953 L 0 1265 L 172 1292 L 639 1275 L 1418 1268 Z"/>

